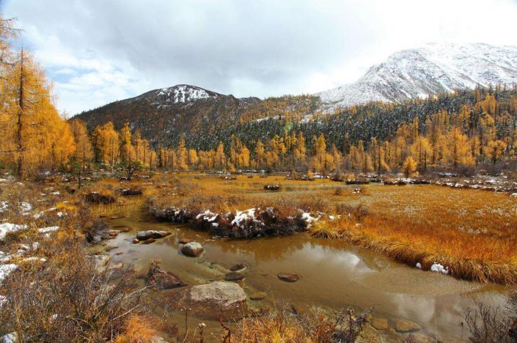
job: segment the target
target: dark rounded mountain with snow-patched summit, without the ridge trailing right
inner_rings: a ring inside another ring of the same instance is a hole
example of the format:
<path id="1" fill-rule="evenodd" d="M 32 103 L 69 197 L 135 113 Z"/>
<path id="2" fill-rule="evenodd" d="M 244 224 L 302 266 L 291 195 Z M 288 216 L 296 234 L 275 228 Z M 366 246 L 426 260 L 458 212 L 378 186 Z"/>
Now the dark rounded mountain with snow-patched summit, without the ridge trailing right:
<path id="1" fill-rule="evenodd" d="M 117 128 L 130 123 L 143 137 L 157 144 L 168 144 L 167 136 L 171 132 L 175 138 L 203 130 L 208 134 L 215 127 L 235 123 L 241 113 L 260 101 L 254 97 L 237 99 L 231 94 L 181 84 L 108 103 L 74 118 L 84 120 L 91 129 L 108 121 Z"/>

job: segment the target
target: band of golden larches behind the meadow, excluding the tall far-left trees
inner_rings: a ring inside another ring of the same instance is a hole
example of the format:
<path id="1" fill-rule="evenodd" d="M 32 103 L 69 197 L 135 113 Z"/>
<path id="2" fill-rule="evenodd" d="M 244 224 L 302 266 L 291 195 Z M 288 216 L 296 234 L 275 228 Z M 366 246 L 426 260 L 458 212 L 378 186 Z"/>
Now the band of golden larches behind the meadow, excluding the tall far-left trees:
<path id="1" fill-rule="evenodd" d="M 474 90 L 479 92 L 479 90 Z M 236 135 L 213 149 L 187 147 L 180 138 L 177 147 L 152 148 L 138 131 L 132 136 L 125 124 L 117 133 L 112 123 L 93 130 L 95 159 L 101 164 L 139 161 L 150 168 L 169 170 L 268 169 L 322 173 L 386 173 L 403 171 L 411 175 L 429 168 L 468 169 L 479 164 L 496 165 L 517 157 L 517 97 L 497 101 L 494 92 L 483 92 L 474 103 L 461 105 L 458 112 L 442 109 L 402 122 L 386 139 L 372 137 L 352 142 L 342 133 L 338 147 L 323 133 L 306 140 L 303 131 L 285 127 L 281 134 L 245 144 Z"/>

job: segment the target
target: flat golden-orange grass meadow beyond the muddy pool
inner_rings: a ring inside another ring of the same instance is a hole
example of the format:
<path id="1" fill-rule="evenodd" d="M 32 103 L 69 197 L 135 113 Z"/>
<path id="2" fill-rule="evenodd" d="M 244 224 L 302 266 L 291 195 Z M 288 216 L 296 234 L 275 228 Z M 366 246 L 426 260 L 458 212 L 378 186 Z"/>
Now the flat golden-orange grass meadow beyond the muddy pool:
<path id="1" fill-rule="evenodd" d="M 263 186 L 279 184 L 280 192 Z M 507 194 L 432 185 L 344 186 L 283 176 L 235 180 L 189 174 L 155 178 L 153 205 L 215 213 L 275 207 L 286 216 L 299 209 L 328 215 L 313 225 L 318 237 L 344 239 L 414 266 L 438 262 L 462 279 L 517 283 L 517 201 Z M 336 191 L 337 187 L 342 188 Z M 359 206 L 361 205 L 361 206 Z"/>

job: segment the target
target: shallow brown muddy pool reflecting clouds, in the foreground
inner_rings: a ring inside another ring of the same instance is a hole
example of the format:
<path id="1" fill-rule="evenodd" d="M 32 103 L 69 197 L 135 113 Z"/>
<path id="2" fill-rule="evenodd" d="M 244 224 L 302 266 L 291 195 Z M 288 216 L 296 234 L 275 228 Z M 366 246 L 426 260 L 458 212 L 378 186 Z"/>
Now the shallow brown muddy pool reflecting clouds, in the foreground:
<path id="1" fill-rule="evenodd" d="M 129 227 L 130 231 L 107 241 L 118 246 L 110 251 L 112 263 L 131 264 L 137 272 L 145 272 L 149 259 L 159 257 L 166 270 L 192 285 L 222 280 L 230 266 L 241 262 L 247 266 L 245 292 L 267 293 L 263 301 L 250 301 L 255 307 L 271 306 L 275 301 L 289 301 L 299 310 L 313 306 L 373 307 L 375 317 L 413 320 L 422 327 L 422 333 L 450 341 L 462 337 L 459 323 L 467 307 L 477 301 L 494 305 L 505 301 L 502 286 L 423 272 L 338 240 L 316 239 L 304 233 L 257 240 L 215 239 L 186 225 L 158 222 L 146 207 L 119 215 L 123 218 L 109 220 L 110 225 L 114 229 Z M 167 230 L 172 235 L 153 244 L 132 244 L 136 231 L 147 229 Z M 204 254 L 185 257 L 179 238 L 202 243 Z M 286 283 L 277 278 L 278 272 L 295 272 L 301 278 Z"/>

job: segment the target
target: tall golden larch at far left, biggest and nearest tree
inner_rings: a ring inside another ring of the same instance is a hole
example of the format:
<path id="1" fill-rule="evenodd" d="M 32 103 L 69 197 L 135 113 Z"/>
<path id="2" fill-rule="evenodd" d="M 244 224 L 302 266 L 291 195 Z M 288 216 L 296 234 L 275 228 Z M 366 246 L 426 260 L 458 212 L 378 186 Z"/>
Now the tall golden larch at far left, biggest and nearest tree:
<path id="1" fill-rule="evenodd" d="M 0 77 L 0 152 L 21 176 L 64 164 L 75 151 L 67 123 L 51 101 L 51 84 L 21 51 Z"/>

